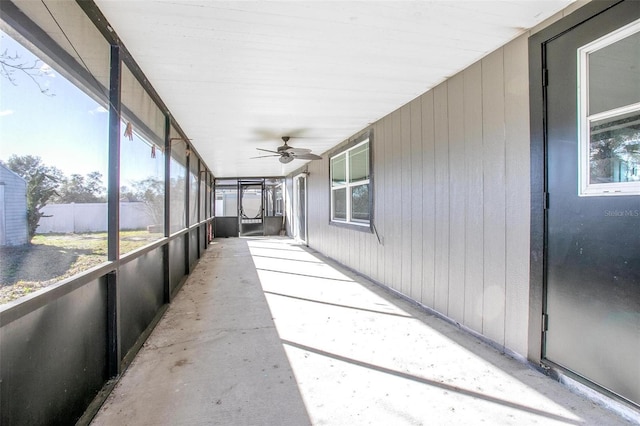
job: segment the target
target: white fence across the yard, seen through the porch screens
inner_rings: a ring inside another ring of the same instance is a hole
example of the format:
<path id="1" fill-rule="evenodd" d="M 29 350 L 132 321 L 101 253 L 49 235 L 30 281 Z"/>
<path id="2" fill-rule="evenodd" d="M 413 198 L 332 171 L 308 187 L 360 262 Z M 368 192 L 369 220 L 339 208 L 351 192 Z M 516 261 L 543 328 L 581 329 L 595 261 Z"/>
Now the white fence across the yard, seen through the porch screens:
<path id="1" fill-rule="evenodd" d="M 42 211 L 50 217 L 40 219 L 38 234 L 107 231 L 107 203 L 49 204 Z M 154 222 L 145 203 L 120 203 L 120 229 L 162 225 Z"/>

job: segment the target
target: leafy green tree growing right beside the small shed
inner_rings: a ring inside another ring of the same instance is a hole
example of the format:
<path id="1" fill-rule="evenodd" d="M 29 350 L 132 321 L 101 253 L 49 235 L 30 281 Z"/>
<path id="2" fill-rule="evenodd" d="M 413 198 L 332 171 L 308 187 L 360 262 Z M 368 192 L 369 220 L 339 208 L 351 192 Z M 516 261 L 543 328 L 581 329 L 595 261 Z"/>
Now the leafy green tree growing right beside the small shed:
<path id="1" fill-rule="evenodd" d="M 40 218 L 45 217 L 42 208 L 58 194 L 63 174 L 58 168 L 45 165 L 40 157 L 33 155 L 14 154 L 9 157 L 6 166 L 27 181 L 27 224 L 31 240 Z"/>

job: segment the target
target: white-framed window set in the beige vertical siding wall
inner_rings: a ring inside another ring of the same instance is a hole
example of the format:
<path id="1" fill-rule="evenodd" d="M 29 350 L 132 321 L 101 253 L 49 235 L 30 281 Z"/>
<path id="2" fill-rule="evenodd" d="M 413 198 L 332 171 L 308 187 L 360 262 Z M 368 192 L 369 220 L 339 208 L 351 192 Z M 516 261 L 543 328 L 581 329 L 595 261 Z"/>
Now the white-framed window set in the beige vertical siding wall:
<path id="1" fill-rule="evenodd" d="M 371 180 L 369 139 L 330 160 L 331 221 L 369 226 Z"/>

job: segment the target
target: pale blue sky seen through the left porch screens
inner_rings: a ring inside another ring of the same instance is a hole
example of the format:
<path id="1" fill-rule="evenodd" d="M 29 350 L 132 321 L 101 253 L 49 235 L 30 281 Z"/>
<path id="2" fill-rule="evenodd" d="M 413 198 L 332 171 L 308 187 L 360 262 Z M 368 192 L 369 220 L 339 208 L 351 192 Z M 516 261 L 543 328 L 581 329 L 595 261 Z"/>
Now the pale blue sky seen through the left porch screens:
<path id="1" fill-rule="evenodd" d="M 0 53 L 18 54 L 29 66 L 38 59 L 0 31 Z M 98 171 L 107 176 L 108 113 L 104 106 L 85 95 L 44 62 L 38 84 L 16 71 L 15 84 L 0 76 L 0 160 L 12 154 L 37 155 L 48 166 L 67 176 Z M 124 131 L 124 128 L 122 129 Z M 121 185 L 148 176 L 162 176 L 162 153 L 151 158 L 151 148 L 134 133 L 134 140 L 122 138 Z"/>

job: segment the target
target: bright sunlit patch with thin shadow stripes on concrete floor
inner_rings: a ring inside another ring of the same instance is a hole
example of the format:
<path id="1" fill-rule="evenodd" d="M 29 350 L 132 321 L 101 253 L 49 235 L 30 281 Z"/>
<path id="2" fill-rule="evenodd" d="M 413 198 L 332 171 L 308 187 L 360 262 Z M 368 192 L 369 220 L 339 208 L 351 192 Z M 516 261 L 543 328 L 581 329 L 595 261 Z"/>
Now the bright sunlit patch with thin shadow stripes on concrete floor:
<path id="1" fill-rule="evenodd" d="M 248 245 L 313 424 L 582 424 L 513 376 L 539 373 L 473 337 L 469 350 L 452 340 L 456 328 L 291 240 Z"/>

